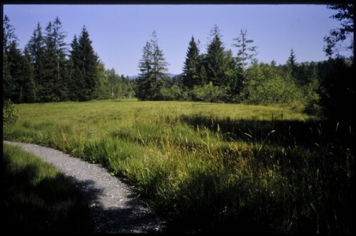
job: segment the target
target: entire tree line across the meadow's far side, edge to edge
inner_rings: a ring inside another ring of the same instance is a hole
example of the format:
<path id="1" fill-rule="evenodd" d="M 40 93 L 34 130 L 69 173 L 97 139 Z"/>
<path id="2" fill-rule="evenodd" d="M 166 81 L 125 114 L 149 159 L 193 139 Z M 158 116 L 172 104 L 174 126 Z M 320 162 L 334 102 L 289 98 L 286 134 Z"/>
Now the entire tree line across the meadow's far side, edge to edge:
<path id="1" fill-rule="evenodd" d="M 139 76 L 135 80 L 118 76 L 106 69 L 93 50 L 85 26 L 70 45 L 58 17 L 44 31 L 37 24 L 23 51 L 9 18 L 3 25 L 3 100 L 15 103 L 89 101 L 93 99 L 131 98 L 140 101 L 208 101 L 227 103 L 305 103 L 305 111 L 325 116 L 345 118 L 340 107 L 353 101 L 353 43 L 342 41 L 353 33 L 353 5 L 333 4 L 337 10 L 331 16 L 342 22 L 340 29 L 325 36 L 324 51 L 329 60 L 297 63 L 290 51 L 286 63 L 259 63 L 257 46 L 248 39 L 247 30 L 240 30 L 232 45 L 238 49 L 234 56 L 226 48 L 218 26 L 210 31 L 206 52 L 200 42 L 191 37 L 183 73 L 173 78 L 167 75 L 168 63 L 158 46 L 158 35 L 143 47 L 138 62 Z M 342 58 L 342 49 L 352 51 Z M 333 57 L 334 56 L 334 57 Z"/>

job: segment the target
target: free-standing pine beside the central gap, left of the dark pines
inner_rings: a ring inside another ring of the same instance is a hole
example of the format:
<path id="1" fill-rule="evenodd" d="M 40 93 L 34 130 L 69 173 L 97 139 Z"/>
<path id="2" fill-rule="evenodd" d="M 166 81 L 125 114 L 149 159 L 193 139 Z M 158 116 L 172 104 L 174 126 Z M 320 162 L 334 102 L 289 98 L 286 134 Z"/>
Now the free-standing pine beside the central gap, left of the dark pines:
<path id="1" fill-rule="evenodd" d="M 136 97 L 140 100 L 159 100 L 160 91 L 166 77 L 168 63 L 163 51 L 158 46 L 156 31 L 151 35 L 151 41 L 143 47 L 143 56 L 138 67 L 141 73 L 136 83 Z"/>

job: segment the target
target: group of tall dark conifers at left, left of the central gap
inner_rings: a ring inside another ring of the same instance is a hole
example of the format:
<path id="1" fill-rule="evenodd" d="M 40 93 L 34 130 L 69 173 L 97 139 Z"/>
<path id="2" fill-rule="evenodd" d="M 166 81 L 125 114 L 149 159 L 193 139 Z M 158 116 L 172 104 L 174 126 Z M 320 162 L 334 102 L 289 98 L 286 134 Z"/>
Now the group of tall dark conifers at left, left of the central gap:
<path id="1" fill-rule="evenodd" d="M 44 30 L 37 24 L 21 51 L 14 26 L 5 15 L 3 100 L 41 103 L 133 96 L 133 83 L 99 60 L 85 26 L 70 45 L 65 39 L 57 16 Z"/>

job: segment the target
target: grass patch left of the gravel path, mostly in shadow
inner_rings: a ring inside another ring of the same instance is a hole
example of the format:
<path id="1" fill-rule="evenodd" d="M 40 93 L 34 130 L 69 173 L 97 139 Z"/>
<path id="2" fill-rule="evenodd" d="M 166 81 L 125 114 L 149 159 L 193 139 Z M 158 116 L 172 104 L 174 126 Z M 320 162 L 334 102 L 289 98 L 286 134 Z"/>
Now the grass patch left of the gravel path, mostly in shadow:
<path id="1" fill-rule="evenodd" d="M 4 232 L 93 232 L 86 201 L 70 180 L 18 147 L 3 148 Z"/>

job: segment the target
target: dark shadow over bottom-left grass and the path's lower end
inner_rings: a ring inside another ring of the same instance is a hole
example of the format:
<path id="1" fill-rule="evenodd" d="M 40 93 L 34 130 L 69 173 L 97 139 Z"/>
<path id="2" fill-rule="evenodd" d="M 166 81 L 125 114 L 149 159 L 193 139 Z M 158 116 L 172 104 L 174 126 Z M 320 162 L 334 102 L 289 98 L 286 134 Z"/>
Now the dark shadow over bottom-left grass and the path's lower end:
<path id="1" fill-rule="evenodd" d="M 93 180 L 61 173 L 39 180 L 38 166 L 11 170 L 4 155 L 3 230 L 19 233 L 158 232 L 158 220 L 133 199 L 123 207 L 101 204 L 103 190 Z M 38 181 L 39 180 L 39 181 Z M 118 205 L 120 202 L 118 202 Z"/>

